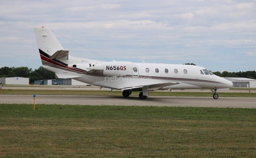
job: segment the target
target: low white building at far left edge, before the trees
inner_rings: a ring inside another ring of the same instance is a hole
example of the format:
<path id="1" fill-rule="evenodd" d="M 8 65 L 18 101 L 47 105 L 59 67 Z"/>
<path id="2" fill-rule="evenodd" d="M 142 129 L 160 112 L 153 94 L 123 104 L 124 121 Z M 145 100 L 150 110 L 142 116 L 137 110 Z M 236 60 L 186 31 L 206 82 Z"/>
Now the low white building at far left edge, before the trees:
<path id="1" fill-rule="evenodd" d="M 20 84 L 29 85 L 29 78 L 25 77 L 4 77 L 0 78 L 0 84 Z"/>

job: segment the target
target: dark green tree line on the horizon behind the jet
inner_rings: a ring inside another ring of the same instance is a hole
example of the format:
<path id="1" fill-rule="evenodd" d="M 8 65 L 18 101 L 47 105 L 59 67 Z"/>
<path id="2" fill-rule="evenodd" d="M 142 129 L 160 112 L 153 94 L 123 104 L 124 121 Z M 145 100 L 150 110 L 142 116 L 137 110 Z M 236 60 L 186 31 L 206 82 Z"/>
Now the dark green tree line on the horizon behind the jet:
<path id="1" fill-rule="evenodd" d="M 193 63 L 186 65 L 195 65 Z M 246 71 L 246 72 L 213 72 L 213 74 L 220 77 L 246 77 L 256 79 L 255 71 Z M 35 80 L 52 80 L 55 79 L 55 74 L 51 71 L 48 71 L 43 66 L 40 66 L 34 71 L 28 67 L 2 67 L 0 68 L 0 78 L 2 77 L 27 77 L 29 78 L 29 83 L 34 83 Z"/>

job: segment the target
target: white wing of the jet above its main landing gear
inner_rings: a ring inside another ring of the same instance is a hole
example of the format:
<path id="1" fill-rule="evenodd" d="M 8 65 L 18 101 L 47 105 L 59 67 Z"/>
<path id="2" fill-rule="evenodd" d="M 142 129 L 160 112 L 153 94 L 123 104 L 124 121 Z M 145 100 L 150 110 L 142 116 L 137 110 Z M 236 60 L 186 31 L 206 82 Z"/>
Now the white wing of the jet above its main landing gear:
<path id="1" fill-rule="evenodd" d="M 147 89 L 148 91 L 154 91 L 154 90 L 161 90 L 163 87 L 175 85 L 175 84 L 181 84 L 179 82 L 165 82 L 165 83 L 156 83 L 156 84 L 149 84 L 149 85 L 140 85 L 140 86 L 133 86 L 133 87 L 126 87 L 121 90 L 131 90 L 131 91 L 139 91 L 142 89 Z"/>

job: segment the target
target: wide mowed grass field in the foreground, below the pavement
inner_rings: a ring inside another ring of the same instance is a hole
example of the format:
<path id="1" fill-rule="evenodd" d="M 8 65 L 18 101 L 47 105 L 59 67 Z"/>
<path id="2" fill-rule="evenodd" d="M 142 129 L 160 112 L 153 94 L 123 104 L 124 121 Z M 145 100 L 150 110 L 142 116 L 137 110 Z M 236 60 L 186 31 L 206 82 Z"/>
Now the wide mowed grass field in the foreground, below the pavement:
<path id="1" fill-rule="evenodd" d="M 256 157 L 256 109 L 0 104 L 1 157 Z"/>

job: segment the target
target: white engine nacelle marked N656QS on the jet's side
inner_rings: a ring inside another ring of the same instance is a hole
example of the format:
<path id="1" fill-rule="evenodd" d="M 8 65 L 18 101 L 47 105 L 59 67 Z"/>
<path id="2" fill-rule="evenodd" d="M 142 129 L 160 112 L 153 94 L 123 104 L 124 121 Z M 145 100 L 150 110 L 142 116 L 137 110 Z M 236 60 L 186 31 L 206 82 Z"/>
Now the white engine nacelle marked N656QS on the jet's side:
<path id="1" fill-rule="evenodd" d="M 105 76 L 120 76 L 132 75 L 133 63 L 132 62 L 104 62 L 93 64 L 87 68 Z"/>

